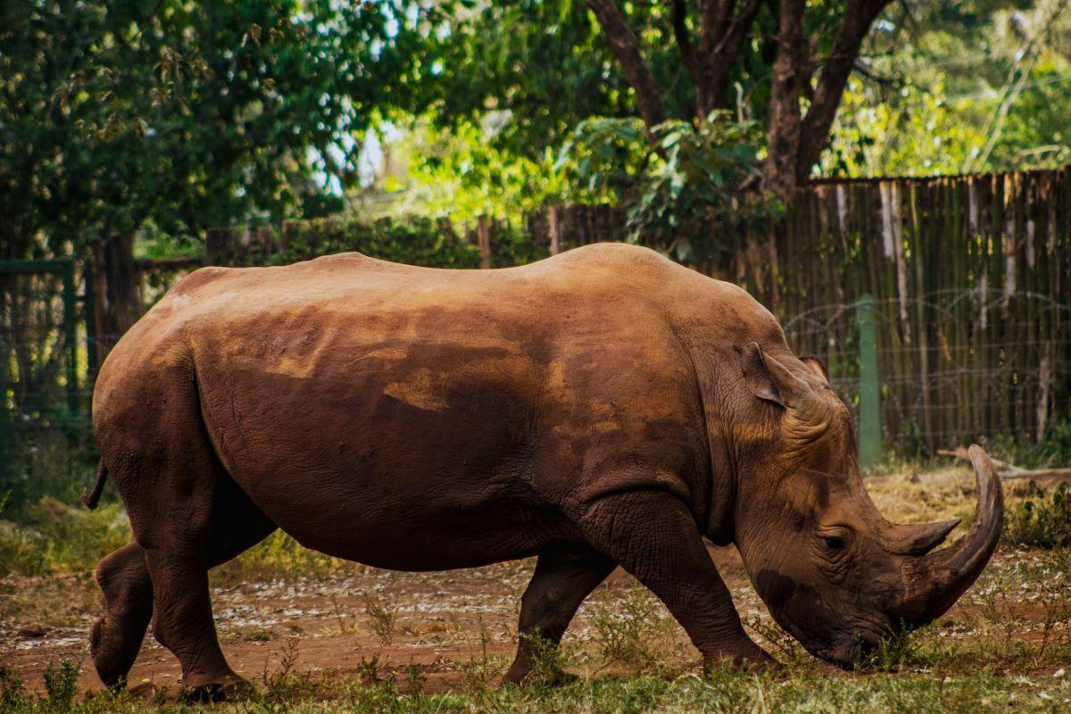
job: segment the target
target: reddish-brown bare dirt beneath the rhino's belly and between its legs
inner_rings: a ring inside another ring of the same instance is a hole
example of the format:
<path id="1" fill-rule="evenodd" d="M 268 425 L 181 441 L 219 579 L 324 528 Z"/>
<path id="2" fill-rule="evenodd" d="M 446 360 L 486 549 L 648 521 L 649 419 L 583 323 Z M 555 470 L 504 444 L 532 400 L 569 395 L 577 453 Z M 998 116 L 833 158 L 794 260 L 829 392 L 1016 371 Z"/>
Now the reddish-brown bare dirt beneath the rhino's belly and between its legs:
<path id="1" fill-rule="evenodd" d="M 736 549 L 712 548 L 712 553 L 741 614 L 757 613 L 761 605 Z M 375 658 L 379 677 L 390 671 L 399 678 L 409 675 L 416 665 L 423 688 L 441 692 L 453 688 L 464 663 L 482 658 L 484 649 L 489 656 L 512 657 L 519 597 L 533 567 L 534 560 L 448 573 L 355 568 L 349 576 L 326 579 L 215 587 L 212 602 L 223 650 L 231 667 L 250 680 L 260 682 L 285 667 L 322 675 L 369 677 L 368 663 Z M 99 689 L 101 682 L 87 655 L 87 633 L 97 614 L 90 606 L 94 593 L 84 591 L 92 586 L 67 578 L 54 583 L 24 582 L 19 589 L 48 590 L 49 584 L 70 594 L 67 605 L 75 611 L 66 618 L 37 618 L 60 620 L 63 625 L 25 616 L 6 622 L 0 628 L 0 662 L 19 672 L 31 690 L 42 689 L 49 663 L 80 662 L 79 688 Z M 582 662 L 583 653 L 593 644 L 592 610 L 612 608 L 615 598 L 635 587 L 631 577 L 618 571 L 582 607 L 565 638 L 567 647 L 580 650 Z M 388 622 L 391 614 L 393 623 Z M 674 629 L 668 636 L 679 640 L 681 656 L 698 662 L 683 632 Z M 131 686 L 145 693 L 176 689 L 180 677 L 178 660 L 147 636 L 131 672 Z"/>

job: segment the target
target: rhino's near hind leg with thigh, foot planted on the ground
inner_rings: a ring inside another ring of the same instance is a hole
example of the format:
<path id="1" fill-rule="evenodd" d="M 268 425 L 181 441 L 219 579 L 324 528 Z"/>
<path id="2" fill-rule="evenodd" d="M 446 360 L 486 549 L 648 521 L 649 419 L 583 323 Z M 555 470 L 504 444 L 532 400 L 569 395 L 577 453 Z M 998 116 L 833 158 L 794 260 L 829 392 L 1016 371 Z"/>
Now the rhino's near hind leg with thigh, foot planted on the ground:
<path id="1" fill-rule="evenodd" d="M 220 649 L 208 571 L 261 541 L 275 525 L 216 456 L 190 371 L 177 369 L 154 377 L 132 380 L 125 392 L 109 395 L 105 409 L 110 412 L 99 412 L 97 440 L 144 552 L 151 582 L 153 635 L 178 657 L 184 696 L 214 700 L 247 685 Z M 166 404 L 167 408 L 157 411 L 157 419 L 146 420 L 130 416 L 136 414 L 133 409 L 115 406 L 138 401 Z M 134 621 L 130 623 L 133 640 Z M 99 671 L 103 669 L 102 678 L 107 674 L 114 680 L 115 671 L 129 669 L 130 664 L 126 656 L 104 656 L 107 645 L 122 640 L 123 647 L 111 647 L 129 656 L 129 642 L 118 635 L 111 637 L 107 627 L 101 631 L 105 649 Z"/>

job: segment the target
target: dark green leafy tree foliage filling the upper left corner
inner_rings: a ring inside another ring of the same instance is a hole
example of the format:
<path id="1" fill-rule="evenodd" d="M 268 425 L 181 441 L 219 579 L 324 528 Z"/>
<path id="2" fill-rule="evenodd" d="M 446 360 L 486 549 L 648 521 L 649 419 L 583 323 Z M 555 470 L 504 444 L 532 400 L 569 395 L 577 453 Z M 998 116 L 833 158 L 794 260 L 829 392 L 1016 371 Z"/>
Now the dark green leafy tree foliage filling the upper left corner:
<path id="1" fill-rule="evenodd" d="M 407 9 L 4 3 L 0 257 L 321 211 L 314 173 L 353 183 L 355 136 L 407 95 Z"/>

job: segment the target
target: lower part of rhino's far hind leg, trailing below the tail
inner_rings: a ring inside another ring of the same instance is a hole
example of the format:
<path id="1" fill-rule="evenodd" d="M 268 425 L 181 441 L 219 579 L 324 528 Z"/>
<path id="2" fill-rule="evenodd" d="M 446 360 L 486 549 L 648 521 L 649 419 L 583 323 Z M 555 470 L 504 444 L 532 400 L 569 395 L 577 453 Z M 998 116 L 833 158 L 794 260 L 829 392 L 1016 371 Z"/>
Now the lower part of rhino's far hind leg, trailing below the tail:
<path id="1" fill-rule="evenodd" d="M 101 681 L 121 687 L 137 658 L 152 618 L 152 582 L 145 551 L 136 543 L 106 556 L 96 566 L 104 617 L 93 623 L 90 652 Z"/>

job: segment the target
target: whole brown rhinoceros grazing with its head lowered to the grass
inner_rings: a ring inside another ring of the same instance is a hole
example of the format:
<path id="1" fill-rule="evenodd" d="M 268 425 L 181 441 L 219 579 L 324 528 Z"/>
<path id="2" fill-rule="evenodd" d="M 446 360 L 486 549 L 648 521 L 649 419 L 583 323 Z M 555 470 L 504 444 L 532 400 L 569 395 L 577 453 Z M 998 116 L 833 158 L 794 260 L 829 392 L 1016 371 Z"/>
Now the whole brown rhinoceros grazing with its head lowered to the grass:
<path id="1" fill-rule="evenodd" d="M 208 571 L 277 528 L 396 571 L 537 557 L 521 682 L 617 566 L 708 666 L 772 664 L 705 540 L 735 544 L 776 622 L 851 667 L 956 601 L 1004 513 L 974 446 L 959 542 L 934 551 L 956 520 L 883 518 L 820 363 L 744 290 L 624 244 L 485 271 L 356 253 L 198 270 L 108 354 L 93 422 L 86 501 L 110 476 L 135 538 L 96 568 L 96 671 L 121 684 L 155 613 L 186 690 L 213 696 L 241 679 Z"/>

